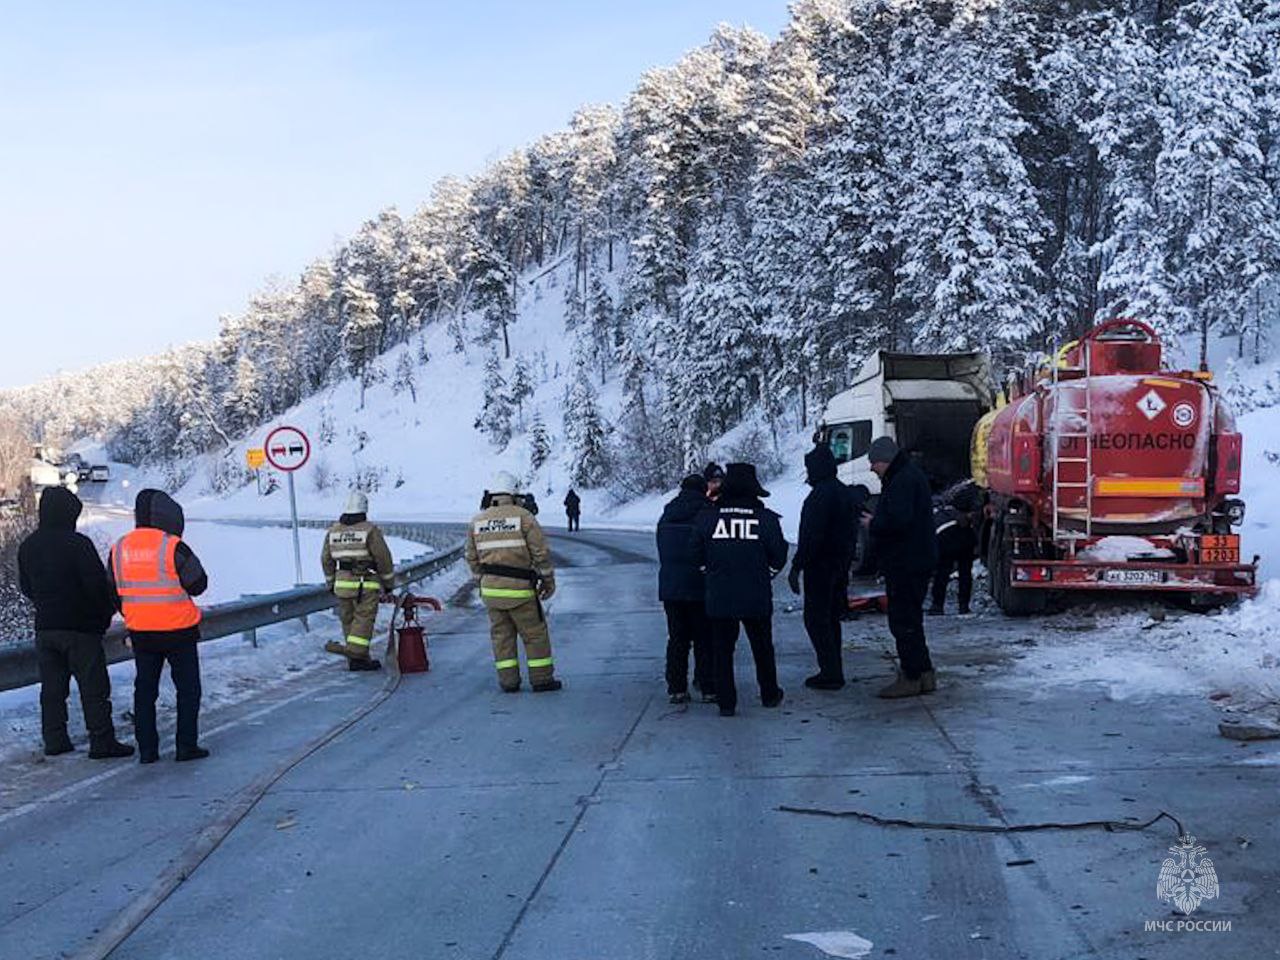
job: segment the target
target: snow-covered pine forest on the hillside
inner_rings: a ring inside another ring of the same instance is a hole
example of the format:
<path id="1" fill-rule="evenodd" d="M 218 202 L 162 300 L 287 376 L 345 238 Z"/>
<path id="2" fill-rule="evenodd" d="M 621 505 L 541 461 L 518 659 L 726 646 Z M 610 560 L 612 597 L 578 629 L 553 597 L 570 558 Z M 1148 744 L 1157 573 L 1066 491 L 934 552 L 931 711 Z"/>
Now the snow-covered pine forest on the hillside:
<path id="1" fill-rule="evenodd" d="M 476 429 L 545 458 L 513 348 L 564 270 L 570 476 L 660 489 L 745 416 L 812 421 L 882 347 L 1014 365 L 1125 314 L 1254 357 L 1277 209 L 1280 0 L 795 0 L 776 41 L 721 27 L 384 210 L 215 340 L 4 402 L 116 460 L 193 457 L 347 378 L 412 394 L 442 329 L 489 388 Z"/>

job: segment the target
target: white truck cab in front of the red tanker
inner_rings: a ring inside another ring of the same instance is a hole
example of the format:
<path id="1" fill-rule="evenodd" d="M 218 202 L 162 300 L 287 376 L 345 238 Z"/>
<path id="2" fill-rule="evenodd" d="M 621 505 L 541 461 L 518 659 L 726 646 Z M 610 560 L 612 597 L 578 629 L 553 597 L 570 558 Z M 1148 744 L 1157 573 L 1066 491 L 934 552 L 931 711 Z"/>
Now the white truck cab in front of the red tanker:
<path id="1" fill-rule="evenodd" d="M 969 476 L 969 439 L 995 399 L 986 353 L 879 351 L 827 402 L 817 439 L 831 445 L 841 480 L 877 494 L 867 452 L 892 436 L 941 490 Z"/>

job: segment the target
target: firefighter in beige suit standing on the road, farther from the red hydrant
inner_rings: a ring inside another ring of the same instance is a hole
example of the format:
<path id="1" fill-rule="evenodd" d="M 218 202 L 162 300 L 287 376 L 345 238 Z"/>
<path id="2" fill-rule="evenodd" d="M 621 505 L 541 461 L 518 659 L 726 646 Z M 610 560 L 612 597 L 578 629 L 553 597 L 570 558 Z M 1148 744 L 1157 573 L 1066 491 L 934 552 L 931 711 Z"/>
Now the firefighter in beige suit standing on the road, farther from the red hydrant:
<path id="1" fill-rule="evenodd" d="M 525 641 L 529 684 L 535 694 L 559 690 L 552 639 L 541 602 L 556 593 L 556 571 L 543 529 L 517 506 L 516 477 L 494 477 L 485 508 L 467 527 L 467 566 L 480 577 L 480 598 L 489 609 L 489 634 L 498 684 L 520 690 L 516 635 Z"/>

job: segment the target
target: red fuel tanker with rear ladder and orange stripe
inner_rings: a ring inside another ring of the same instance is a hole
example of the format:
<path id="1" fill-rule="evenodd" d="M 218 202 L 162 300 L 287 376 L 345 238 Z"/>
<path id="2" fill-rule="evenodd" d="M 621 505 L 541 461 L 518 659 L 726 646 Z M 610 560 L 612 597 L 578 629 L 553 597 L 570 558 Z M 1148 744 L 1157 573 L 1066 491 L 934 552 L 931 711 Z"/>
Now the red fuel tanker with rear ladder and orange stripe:
<path id="1" fill-rule="evenodd" d="M 1053 591 L 1143 590 L 1207 608 L 1256 591 L 1240 558 L 1242 438 L 1208 372 L 1162 369 L 1156 332 L 1111 320 L 974 430 L 991 589 L 1010 614 Z"/>

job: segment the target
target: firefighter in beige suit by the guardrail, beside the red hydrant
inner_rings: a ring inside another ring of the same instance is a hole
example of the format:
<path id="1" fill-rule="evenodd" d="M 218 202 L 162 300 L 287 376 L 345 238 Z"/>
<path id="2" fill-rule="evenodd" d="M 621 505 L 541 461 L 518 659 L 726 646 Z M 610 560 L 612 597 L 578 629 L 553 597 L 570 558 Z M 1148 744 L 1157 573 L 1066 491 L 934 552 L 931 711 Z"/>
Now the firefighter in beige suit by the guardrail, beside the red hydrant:
<path id="1" fill-rule="evenodd" d="M 369 522 L 369 498 L 353 490 L 338 522 L 329 527 L 320 550 L 325 584 L 338 598 L 343 640 L 324 645 L 346 657 L 348 668 L 379 669 L 369 654 L 378 621 L 378 600 L 396 585 L 396 566 L 383 531 Z"/>

